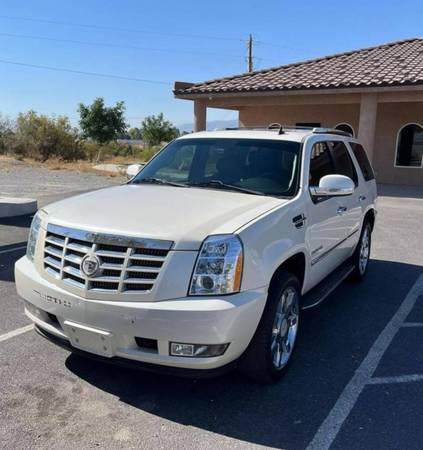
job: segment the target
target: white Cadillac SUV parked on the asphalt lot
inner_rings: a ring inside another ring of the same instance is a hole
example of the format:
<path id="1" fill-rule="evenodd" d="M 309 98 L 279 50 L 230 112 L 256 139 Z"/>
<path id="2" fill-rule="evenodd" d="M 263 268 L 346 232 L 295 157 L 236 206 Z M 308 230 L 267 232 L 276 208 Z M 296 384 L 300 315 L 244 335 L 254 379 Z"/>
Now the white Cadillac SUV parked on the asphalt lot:
<path id="1" fill-rule="evenodd" d="M 127 184 L 41 209 L 17 290 L 72 351 L 270 382 L 301 310 L 365 275 L 376 195 L 363 147 L 339 131 L 190 134 Z"/>

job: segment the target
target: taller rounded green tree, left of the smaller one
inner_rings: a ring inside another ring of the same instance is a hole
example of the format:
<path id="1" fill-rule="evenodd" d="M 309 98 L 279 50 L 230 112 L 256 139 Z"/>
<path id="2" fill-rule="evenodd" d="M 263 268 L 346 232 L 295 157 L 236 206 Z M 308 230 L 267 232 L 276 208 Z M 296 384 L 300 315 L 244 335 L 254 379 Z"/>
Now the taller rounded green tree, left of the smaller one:
<path id="1" fill-rule="evenodd" d="M 115 106 L 105 106 L 104 99 L 97 97 L 91 105 L 79 104 L 79 125 L 85 135 L 100 145 L 114 141 L 125 133 L 125 104 L 117 102 Z"/>

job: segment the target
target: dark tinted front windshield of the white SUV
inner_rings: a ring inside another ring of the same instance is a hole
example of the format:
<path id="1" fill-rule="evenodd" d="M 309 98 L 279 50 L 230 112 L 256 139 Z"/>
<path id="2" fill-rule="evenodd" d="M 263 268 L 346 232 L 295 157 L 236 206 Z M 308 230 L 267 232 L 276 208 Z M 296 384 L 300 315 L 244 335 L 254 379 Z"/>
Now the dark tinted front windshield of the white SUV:
<path id="1" fill-rule="evenodd" d="M 291 197 L 297 192 L 299 159 L 298 142 L 180 139 L 165 147 L 132 183 L 177 183 Z"/>

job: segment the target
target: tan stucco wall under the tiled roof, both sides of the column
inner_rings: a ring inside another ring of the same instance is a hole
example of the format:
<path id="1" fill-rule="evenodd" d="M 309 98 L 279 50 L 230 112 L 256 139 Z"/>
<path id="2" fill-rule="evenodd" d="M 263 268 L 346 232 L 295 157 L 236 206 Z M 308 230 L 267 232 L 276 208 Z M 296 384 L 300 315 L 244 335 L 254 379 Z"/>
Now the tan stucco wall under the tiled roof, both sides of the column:
<path id="1" fill-rule="evenodd" d="M 360 105 L 290 105 L 242 107 L 240 126 L 268 125 L 279 122 L 295 125 L 298 122 L 320 122 L 323 127 L 333 127 L 340 122 L 349 123 L 357 135 Z M 394 167 L 395 145 L 398 130 L 409 122 L 423 125 L 423 103 L 379 103 L 373 167 L 381 183 L 423 185 L 423 169 Z"/>

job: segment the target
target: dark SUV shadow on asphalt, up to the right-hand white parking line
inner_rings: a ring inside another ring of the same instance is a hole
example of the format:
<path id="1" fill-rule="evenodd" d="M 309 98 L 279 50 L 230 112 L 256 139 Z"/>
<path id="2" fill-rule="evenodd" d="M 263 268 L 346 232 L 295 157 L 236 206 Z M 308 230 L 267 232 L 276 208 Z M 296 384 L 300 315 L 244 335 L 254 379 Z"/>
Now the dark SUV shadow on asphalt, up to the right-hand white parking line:
<path id="1" fill-rule="evenodd" d="M 120 401 L 181 425 L 277 448 L 305 448 L 421 266 L 372 260 L 362 283 L 344 282 L 302 315 L 291 367 L 274 385 L 237 372 L 193 380 L 111 366 L 71 354 L 66 367 Z"/>

